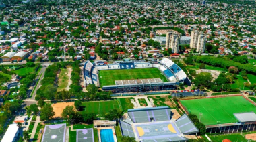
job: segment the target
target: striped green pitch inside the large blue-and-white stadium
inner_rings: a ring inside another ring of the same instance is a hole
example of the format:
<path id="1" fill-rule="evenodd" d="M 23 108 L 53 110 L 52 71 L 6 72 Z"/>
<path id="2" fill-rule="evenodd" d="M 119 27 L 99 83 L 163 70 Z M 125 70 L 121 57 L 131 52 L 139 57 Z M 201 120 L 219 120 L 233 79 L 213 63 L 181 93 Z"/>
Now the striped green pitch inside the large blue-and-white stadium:
<path id="1" fill-rule="evenodd" d="M 158 68 L 135 68 L 123 70 L 100 70 L 100 86 L 115 85 L 115 80 L 161 78 L 168 82 Z"/>

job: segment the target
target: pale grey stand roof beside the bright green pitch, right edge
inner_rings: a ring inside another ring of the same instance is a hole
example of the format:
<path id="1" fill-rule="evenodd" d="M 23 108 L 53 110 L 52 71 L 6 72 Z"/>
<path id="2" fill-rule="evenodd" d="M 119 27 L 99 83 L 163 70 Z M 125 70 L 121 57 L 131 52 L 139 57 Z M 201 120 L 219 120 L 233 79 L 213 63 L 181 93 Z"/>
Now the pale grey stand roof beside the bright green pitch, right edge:
<path id="1" fill-rule="evenodd" d="M 254 112 L 234 113 L 234 116 L 241 123 L 256 121 L 256 114 Z"/>

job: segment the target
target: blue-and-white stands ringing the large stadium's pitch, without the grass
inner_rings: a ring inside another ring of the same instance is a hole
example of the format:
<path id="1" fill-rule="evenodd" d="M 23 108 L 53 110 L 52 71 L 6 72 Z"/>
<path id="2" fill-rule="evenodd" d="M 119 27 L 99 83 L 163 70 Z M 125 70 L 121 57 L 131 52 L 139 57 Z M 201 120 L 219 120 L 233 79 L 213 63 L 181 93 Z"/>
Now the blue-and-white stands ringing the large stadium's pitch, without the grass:
<path id="1" fill-rule="evenodd" d="M 163 82 L 160 78 L 137 79 L 137 80 L 115 80 L 115 85 L 102 86 L 102 90 L 112 91 L 113 93 L 125 92 L 148 92 L 158 90 L 174 90 L 180 83 L 191 85 L 187 75 L 177 64 L 168 58 L 163 58 L 156 64 L 148 62 L 118 62 L 103 66 L 96 66 L 87 61 L 84 64 L 84 87 L 88 84 L 100 86 L 98 72 L 100 70 L 125 70 L 133 68 L 158 68 L 168 82 Z"/>

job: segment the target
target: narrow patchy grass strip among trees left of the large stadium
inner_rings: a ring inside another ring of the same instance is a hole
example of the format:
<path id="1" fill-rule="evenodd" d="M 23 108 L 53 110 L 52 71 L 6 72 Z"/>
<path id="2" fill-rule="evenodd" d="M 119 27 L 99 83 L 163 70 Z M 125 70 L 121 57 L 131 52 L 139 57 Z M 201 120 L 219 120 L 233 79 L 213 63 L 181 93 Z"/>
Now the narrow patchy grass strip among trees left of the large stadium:
<path id="1" fill-rule="evenodd" d="M 58 91 L 64 90 L 67 85 L 68 85 L 68 81 L 69 81 L 69 76 L 67 76 L 68 74 L 68 70 L 67 68 L 62 68 L 61 69 L 61 73 L 59 74 L 59 82 L 58 82 Z"/>

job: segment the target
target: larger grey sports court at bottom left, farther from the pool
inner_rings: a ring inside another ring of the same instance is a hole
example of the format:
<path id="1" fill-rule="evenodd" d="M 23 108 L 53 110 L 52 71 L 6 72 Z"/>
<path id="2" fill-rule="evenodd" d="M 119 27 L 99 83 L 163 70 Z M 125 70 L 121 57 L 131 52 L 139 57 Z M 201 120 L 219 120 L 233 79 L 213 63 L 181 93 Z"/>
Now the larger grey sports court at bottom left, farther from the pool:
<path id="1" fill-rule="evenodd" d="M 42 142 L 65 142 L 66 124 L 46 125 Z"/>

